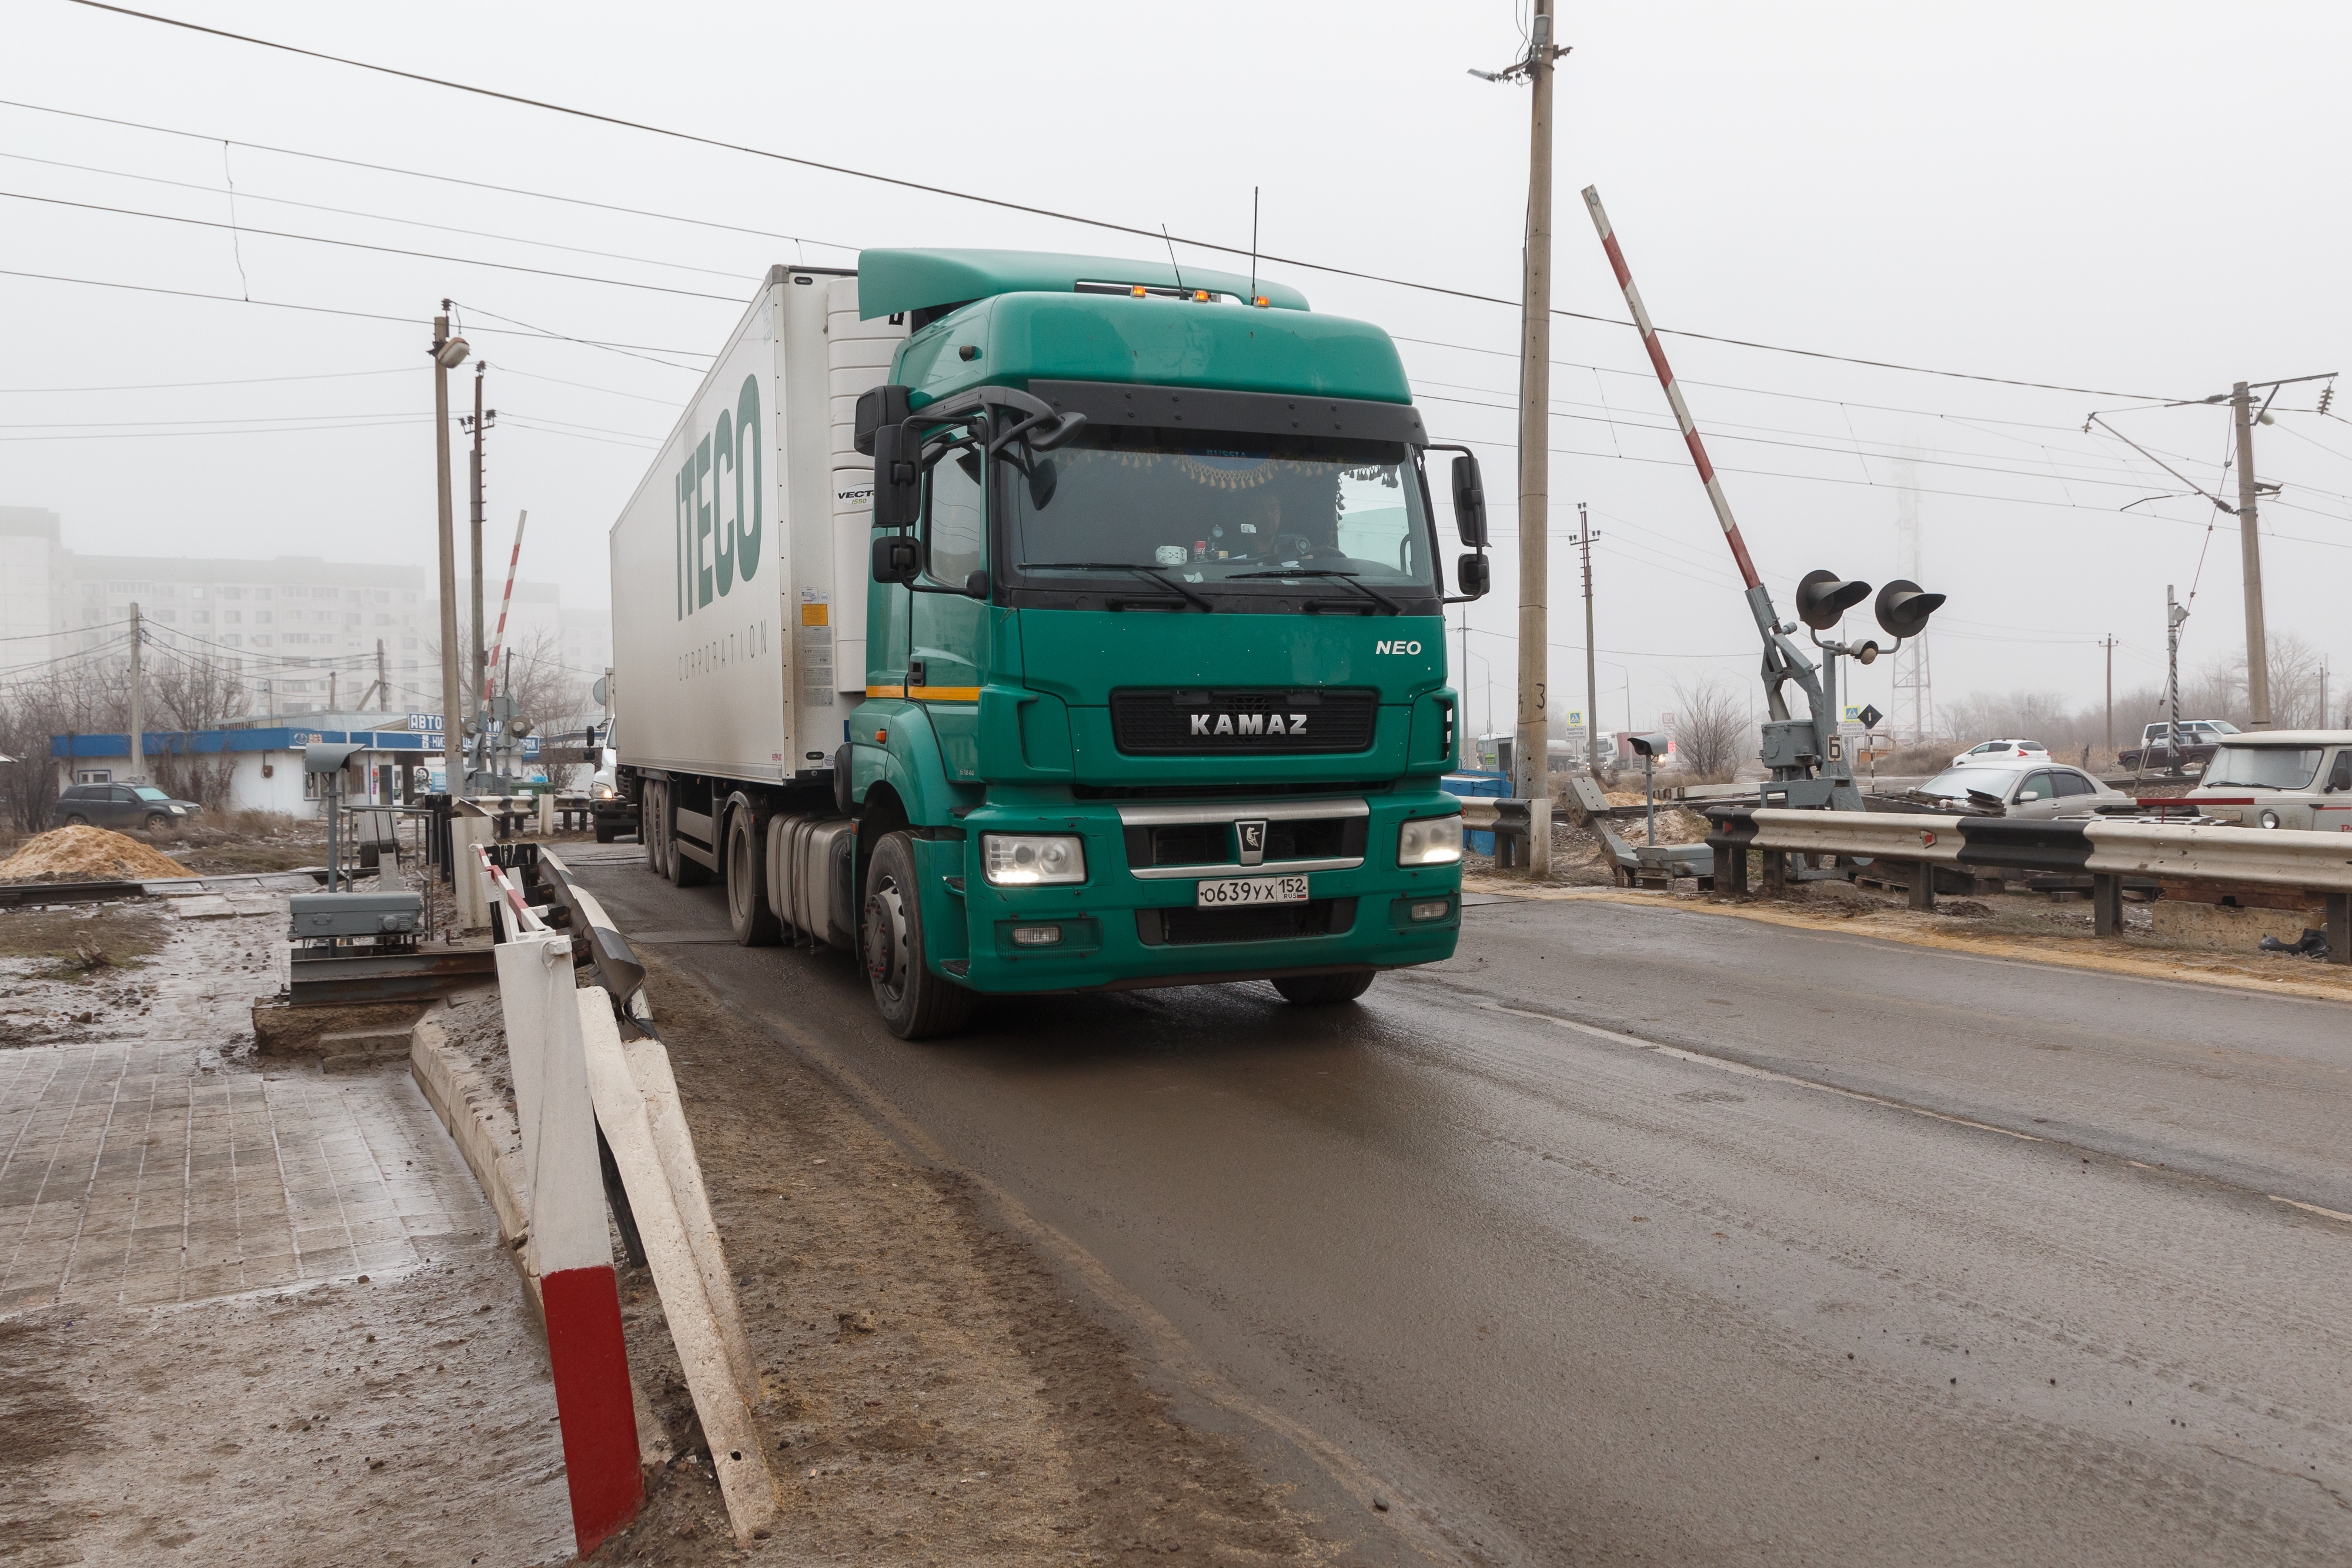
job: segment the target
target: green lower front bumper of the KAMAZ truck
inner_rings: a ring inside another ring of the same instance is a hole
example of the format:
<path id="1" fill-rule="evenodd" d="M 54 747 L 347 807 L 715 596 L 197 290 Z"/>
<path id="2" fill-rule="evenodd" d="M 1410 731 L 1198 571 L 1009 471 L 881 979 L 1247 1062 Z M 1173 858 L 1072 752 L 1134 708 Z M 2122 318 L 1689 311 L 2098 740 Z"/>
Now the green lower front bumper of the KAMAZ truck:
<path id="1" fill-rule="evenodd" d="M 927 931 L 941 938 L 927 943 L 931 964 L 976 992 L 1004 994 L 1397 969 L 1454 957 L 1461 863 L 1402 867 L 1397 832 L 1406 818 L 1456 816 L 1461 802 L 1418 785 L 1362 799 L 1367 832 L 1359 865 L 1296 872 L 1308 877 L 1308 905 L 1232 912 L 1225 924 L 1192 914 L 1197 882 L 1291 872 L 1265 863 L 1136 877 L 1127 823 L 1115 804 L 990 802 L 962 820 L 962 842 L 934 837 L 917 844 L 927 872 Z M 1218 809 L 1249 813 L 1247 802 L 1218 802 Z M 1087 844 L 1087 882 L 990 886 L 981 875 L 983 832 L 1075 832 Z M 1414 903 L 1432 900 L 1444 900 L 1439 919 L 1411 919 Z M 1016 945 L 1016 926 L 1061 926 L 1063 940 L 1051 947 Z M 953 950 L 955 938 L 962 938 L 960 952 Z"/>

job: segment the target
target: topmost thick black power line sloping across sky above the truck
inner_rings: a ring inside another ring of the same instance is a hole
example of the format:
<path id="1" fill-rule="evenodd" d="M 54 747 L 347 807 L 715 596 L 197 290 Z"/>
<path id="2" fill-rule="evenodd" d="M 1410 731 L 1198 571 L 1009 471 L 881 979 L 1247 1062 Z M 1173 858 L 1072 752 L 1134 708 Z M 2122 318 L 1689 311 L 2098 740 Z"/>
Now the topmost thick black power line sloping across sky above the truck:
<path id="1" fill-rule="evenodd" d="M 275 42 L 275 40 L 268 40 L 268 38 L 254 38 L 249 33 L 230 33 L 226 28 L 207 28 L 202 24 L 181 21 L 176 16 L 158 16 L 153 12 L 136 12 L 136 9 L 129 9 L 125 5 L 108 5 L 106 0 L 73 0 L 73 2 L 75 5 L 85 5 L 89 9 L 96 9 L 96 12 L 113 12 L 118 16 L 132 16 L 136 21 L 153 21 L 153 24 L 169 26 L 169 28 L 183 28 L 188 33 L 205 33 L 209 38 L 226 38 L 230 42 L 254 45 L 254 47 L 261 47 L 261 49 L 278 49 L 282 54 L 301 54 L 303 59 L 318 59 L 318 61 L 327 61 L 327 63 L 334 63 L 334 66 L 350 66 L 355 71 L 374 71 L 379 75 L 393 75 L 393 78 L 402 78 L 402 80 L 409 80 L 409 82 L 423 82 L 428 87 L 447 87 L 452 92 L 468 92 L 468 94 L 475 94 L 475 96 L 482 96 L 482 99 L 496 99 L 501 103 L 517 103 L 522 108 L 541 108 L 541 110 L 548 110 L 548 113 L 555 113 L 555 115 L 572 115 L 574 120 L 593 120 L 597 125 L 612 125 L 612 127 L 630 129 L 630 132 L 647 132 L 652 136 L 668 136 L 673 141 L 691 141 L 696 146 L 720 148 L 720 150 L 727 150 L 727 153 L 746 153 L 750 158 L 767 158 L 767 160 L 774 160 L 774 162 L 788 162 L 788 165 L 797 165 L 802 169 L 818 169 L 818 172 L 826 172 L 826 174 L 844 174 L 849 179 L 866 179 L 866 181 L 875 181 L 875 183 L 882 183 L 882 186 L 896 186 L 901 190 L 922 190 L 924 195 L 946 195 L 946 197 L 962 200 L 962 202 L 978 202 L 983 207 L 1000 207 L 1000 209 L 1007 209 L 1007 212 L 1025 212 L 1030 216 L 1054 219 L 1054 221 L 1061 221 L 1061 223 L 1082 223 L 1087 228 L 1103 228 L 1103 230 L 1110 230 L 1110 233 L 1136 235 L 1136 237 L 1143 237 L 1143 240 L 1174 242 L 1174 237 L 1167 230 L 1157 230 L 1155 233 L 1150 228 L 1138 228 L 1134 223 L 1112 223 L 1108 219 L 1089 219 L 1089 216 L 1082 216 L 1082 214 L 1075 214 L 1075 212 L 1056 212 L 1051 207 L 1033 207 L 1028 202 L 1009 202 L 1004 197 L 976 195 L 971 190 L 955 190 L 950 186 L 929 186 L 924 181 L 898 179 L 896 174 L 875 174 L 870 169 L 851 169 L 851 167 L 844 167 L 844 165 L 821 162 L 816 158 L 795 158 L 790 153 L 776 153 L 776 150 L 769 150 L 769 148 L 755 148 L 755 146 L 746 146 L 746 143 L 739 143 L 739 141 L 720 141 L 715 136 L 699 136 L 694 132 L 680 132 L 680 129 L 670 129 L 670 127 L 663 127 L 663 125 L 647 125 L 642 120 L 621 120 L 619 115 L 604 115 L 604 113 L 595 113 L 595 110 L 588 110 L 588 108 L 572 108 L 567 103 L 548 103 L 546 99 L 527 99 L 522 94 L 499 92 L 494 87 L 475 87 L 470 82 L 452 82 L 447 78 L 423 75 L 423 73 L 416 73 L 416 71 L 400 71 L 395 66 L 376 66 L 372 61 L 348 59 L 348 56 L 341 56 L 341 54 L 322 54 L 318 49 L 301 49 L 296 45 L 282 45 L 282 42 Z M 1432 282 L 1414 282 L 1414 280 L 1406 280 L 1406 277 L 1385 277 L 1381 273 L 1362 273 L 1362 270 L 1355 270 L 1355 268 L 1329 266 L 1329 263 L 1322 263 L 1322 261 L 1301 261 L 1296 256 L 1275 256 L 1270 252 L 1244 252 L 1237 244 L 1218 244 L 1216 240 L 1192 240 L 1192 237 L 1188 237 L 1183 242 L 1190 244 L 1190 247 L 1195 247 L 1195 249 L 1216 252 L 1221 256 L 1254 254 L 1258 261 L 1270 261 L 1275 266 L 1296 266 L 1296 268 L 1308 268 L 1308 270 L 1315 270 L 1315 273 L 1331 273 L 1334 277 L 1357 277 L 1357 280 L 1364 280 L 1364 282 L 1381 282 L 1381 284 L 1392 284 L 1392 287 L 1399 287 L 1399 289 L 1418 289 L 1423 294 L 1444 294 L 1444 296 L 1451 296 L 1451 299 L 1470 299 L 1470 301 L 1479 301 L 1479 303 L 1489 303 L 1489 306 L 1508 306 L 1512 310 L 1519 308 L 1519 301 L 1503 299 L 1498 294 L 1477 294 L 1472 289 L 1449 289 L 1444 284 L 1432 284 Z M 1559 308 L 1552 308 L 1552 315 L 1564 315 L 1564 317 L 1571 317 L 1571 320 L 1578 320 L 1578 322 L 1599 322 L 1604 327 L 1632 327 L 1632 322 L 1623 322 L 1623 320 L 1606 317 L 1606 315 L 1588 315 L 1583 310 L 1559 310 Z M 1788 348 L 1788 346 L 1780 346 L 1780 343 L 1757 343 L 1757 341 L 1750 341 L 1750 339 L 1726 339 L 1726 336 L 1717 336 L 1712 331 L 1686 331 L 1686 329 L 1675 329 L 1675 327 L 1658 327 L 1658 331 L 1665 331 L 1670 336 L 1682 336 L 1682 339 L 1698 339 L 1698 341 L 1708 341 L 1708 343 L 1729 343 L 1733 348 L 1757 348 L 1757 350 L 1766 350 L 1766 353 L 1799 355 L 1799 357 L 1806 357 L 1806 360 L 1837 360 L 1842 364 L 1867 364 L 1872 369 L 1898 369 L 1898 371 L 1910 371 L 1910 374 L 1922 374 L 1922 376 L 1947 376 L 1947 378 L 1955 378 L 1955 381 L 1987 381 L 1987 383 L 1994 383 L 1994 386 L 2025 386 L 2025 388 L 2034 388 L 2034 390 L 2044 390 L 2044 393 L 2082 393 L 2084 397 L 2133 397 L 2133 400 L 2147 400 L 2147 402 L 2164 402 L 2164 397 L 2154 397 L 2154 395 L 2145 395 L 2145 393 L 2110 393 L 2110 390 L 2100 390 L 2100 388 L 2058 386 L 2058 383 L 2051 383 L 2051 381 L 2020 381 L 2020 378 L 2011 378 L 2011 376 L 1980 376 L 1980 374 L 1973 374 L 1973 371 L 1947 371 L 1947 369 L 1933 369 L 1933 367 L 1924 367 L 1924 364 L 1898 364 L 1898 362 L 1891 362 L 1891 360 L 1860 360 L 1860 357 L 1853 357 L 1853 355 L 1835 355 L 1835 353 L 1825 353 L 1825 350 L 1816 350 L 1816 348 Z"/>

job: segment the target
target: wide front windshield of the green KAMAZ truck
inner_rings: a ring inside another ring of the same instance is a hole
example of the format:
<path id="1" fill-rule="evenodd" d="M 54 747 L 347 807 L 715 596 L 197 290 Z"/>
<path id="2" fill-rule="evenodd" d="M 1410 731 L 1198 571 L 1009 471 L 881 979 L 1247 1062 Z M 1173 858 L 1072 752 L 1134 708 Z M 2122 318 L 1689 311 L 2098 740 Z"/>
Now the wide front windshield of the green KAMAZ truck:
<path id="1" fill-rule="evenodd" d="M 1432 592 L 1421 475 L 1402 442 L 1087 430 L 1014 465 L 1014 569 L 1075 588 L 1141 567 L 1237 592 Z M 1298 576 L 1287 576 L 1298 574 Z"/>

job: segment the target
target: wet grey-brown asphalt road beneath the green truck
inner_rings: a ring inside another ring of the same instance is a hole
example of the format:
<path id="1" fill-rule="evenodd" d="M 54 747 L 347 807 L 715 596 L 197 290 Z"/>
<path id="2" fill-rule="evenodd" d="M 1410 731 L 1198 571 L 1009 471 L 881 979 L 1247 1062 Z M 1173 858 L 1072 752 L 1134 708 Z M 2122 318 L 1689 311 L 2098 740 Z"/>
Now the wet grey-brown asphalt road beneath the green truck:
<path id="1" fill-rule="evenodd" d="M 1374 1556 L 2352 1561 L 2352 1222 L 2296 1206 L 2352 1215 L 2352 1009 L 1564 900 L 1357 1006 L 906 1044 L 583 879 L 1378 1476 Z"/>

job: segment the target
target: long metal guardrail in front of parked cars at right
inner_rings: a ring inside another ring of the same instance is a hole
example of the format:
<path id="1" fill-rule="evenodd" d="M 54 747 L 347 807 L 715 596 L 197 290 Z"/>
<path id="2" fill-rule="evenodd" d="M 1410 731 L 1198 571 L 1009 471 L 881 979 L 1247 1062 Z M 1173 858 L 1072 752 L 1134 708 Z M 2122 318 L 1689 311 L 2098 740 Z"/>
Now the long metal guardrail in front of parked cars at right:
<path id="1" fill-rule="evenodd" d="M 1912 865 L 1910 903 L 1936 907 L 1933 867 L 1997 867 L 2091 877 L 2093 929 L 2124 929 L 2124 877 L 2251 882 L 2314 893 L 2326 905 L 2328 961 L 2352 964 L 2352 837 L 2260 827 L 2192 827 L 2110 818 L 2030 820 L 1879 811 L 1712 806 L 1715 889 L 1748 891 L 1748 853 L 1764 886 L 1785 884 L 1790 856 Z"/>

